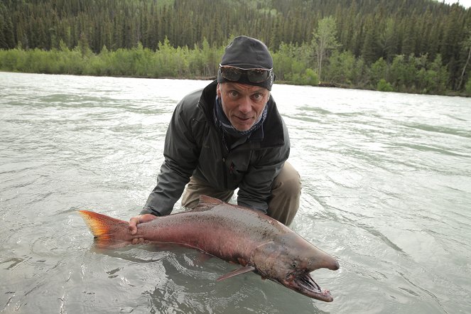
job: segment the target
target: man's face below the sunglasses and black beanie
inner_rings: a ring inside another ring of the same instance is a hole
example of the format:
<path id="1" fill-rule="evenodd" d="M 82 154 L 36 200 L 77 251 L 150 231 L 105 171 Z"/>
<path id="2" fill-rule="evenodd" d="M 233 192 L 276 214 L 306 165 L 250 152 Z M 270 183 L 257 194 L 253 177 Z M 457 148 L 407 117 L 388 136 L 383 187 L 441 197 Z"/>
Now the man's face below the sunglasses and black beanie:
<path id="1" fill-rule="evenodd" d="M 217 85 L 217 96 L 232 126 L 247 131 L 259 119 L 270 92 L 264 87 L 226 82 Z"/>

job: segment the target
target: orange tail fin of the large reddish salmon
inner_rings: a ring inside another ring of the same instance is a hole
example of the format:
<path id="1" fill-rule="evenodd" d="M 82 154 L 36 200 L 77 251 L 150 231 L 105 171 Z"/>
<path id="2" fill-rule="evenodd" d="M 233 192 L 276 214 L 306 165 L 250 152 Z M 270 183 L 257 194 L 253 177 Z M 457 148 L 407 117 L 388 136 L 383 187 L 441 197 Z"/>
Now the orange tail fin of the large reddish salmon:
<path id="1" fill-rule="evenodd" d="M 130 241 L 128 222 L 88 210 L 79 210 L 79 214 L 90 228 L 97 247 L 122 247 Z"/>

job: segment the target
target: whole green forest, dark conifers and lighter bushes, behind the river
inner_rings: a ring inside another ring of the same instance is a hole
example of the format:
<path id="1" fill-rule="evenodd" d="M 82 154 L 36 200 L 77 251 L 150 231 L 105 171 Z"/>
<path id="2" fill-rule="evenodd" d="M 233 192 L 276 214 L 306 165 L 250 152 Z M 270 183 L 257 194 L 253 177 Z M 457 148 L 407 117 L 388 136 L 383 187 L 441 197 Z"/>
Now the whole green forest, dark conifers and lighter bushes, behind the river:
<path id="1" fill-rule="evenodd" d="M 2 0 L 0 70 L 210 79 L 239 35 L 277 82 L 471 96 L 471 9 L 435 0 Z"/>

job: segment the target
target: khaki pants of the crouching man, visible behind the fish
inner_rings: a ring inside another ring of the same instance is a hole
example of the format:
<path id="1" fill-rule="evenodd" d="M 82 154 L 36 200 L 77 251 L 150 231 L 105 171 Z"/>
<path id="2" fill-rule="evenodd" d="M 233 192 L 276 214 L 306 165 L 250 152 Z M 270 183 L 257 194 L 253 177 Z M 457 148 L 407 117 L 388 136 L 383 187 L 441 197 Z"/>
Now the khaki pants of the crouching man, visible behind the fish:
<path id="1" fill-rule="evenodd" d="M 190 183 L 183 192 L 182 206 L 195 207 L 200 200 L 200 195 L 208 195 L 228 202 L 233 194 L 233 190 L 215 190 L 207 182 L 191 177 Z M 301 178 L 299 173 L 291 166 L 291 163 L 285 162 L 272 185 L 267 214 L 283 224 L 291 224 L 296 212 L 298 212 L 300 196 Z"/>

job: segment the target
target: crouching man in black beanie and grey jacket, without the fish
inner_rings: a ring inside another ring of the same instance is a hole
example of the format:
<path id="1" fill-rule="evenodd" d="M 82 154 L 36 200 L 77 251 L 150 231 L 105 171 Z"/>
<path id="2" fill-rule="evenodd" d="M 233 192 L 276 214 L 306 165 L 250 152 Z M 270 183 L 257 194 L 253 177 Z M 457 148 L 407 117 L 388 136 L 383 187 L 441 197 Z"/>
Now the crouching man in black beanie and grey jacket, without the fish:
<path id="1" fill-rule="evenodd" d="M 239 205 L 293 221 L 301 180 L 286 162 L 290 142 L 270 95 L 274 78 L 260 40 L 239 36 L 227 45 L 217 80 L 175 107 L 156 188 L 131 218 L 132 234 L 137 224 L 170 214 L 182 193 L 183 207 L 193 208 L 201 194 L 227 202 L 237 188 Z"/>

